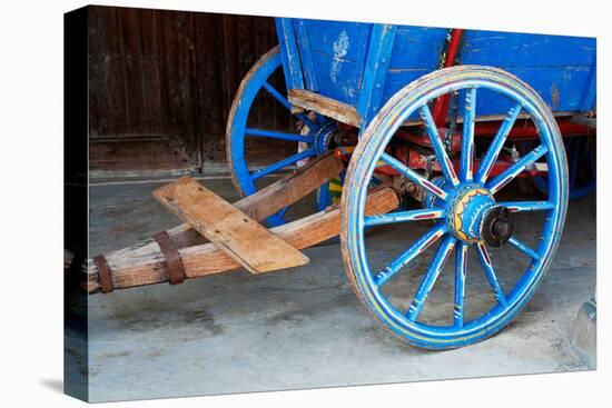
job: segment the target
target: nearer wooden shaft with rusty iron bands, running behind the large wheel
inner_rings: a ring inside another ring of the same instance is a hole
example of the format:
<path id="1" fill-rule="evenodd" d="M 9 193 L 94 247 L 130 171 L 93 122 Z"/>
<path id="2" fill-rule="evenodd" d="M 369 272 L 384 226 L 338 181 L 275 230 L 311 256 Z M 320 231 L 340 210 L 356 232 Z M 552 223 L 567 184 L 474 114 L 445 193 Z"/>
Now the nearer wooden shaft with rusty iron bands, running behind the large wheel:
<path id="1" fill-rule="evenodd" d="M 385 187 L 369 193 L 366 215 L 373 216 L 393 211 L 399 201 L 392 188 Z M 304 249 L 323 242 L 339 233 L 340 209 L 329 207 L 297 221 L 273 228 L 270 231 L 296 249 Z M 201 243 L 178 250 L 188 278 L 223 273 L 239 269 L 240 263 L 213 243 Z M 168 281 L 168 269 L 159 247 L 151 239 L 105 256 L 111 269 L 115 289 Z M 85 289 L 99 290 L 98 271 L 91 262 L 87 270 Z"/>

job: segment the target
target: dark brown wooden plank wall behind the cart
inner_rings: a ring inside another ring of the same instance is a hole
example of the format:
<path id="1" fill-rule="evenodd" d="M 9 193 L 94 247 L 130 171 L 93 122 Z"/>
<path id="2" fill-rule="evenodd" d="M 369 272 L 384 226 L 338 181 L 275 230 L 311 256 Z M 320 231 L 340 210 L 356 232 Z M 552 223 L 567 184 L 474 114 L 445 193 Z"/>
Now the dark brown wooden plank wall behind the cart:
<path id="1" fill-rule="evenodd" d="M 162 137 L 191 166 L 224 160 L 236 89 L 276 42 L 272 18 L 90 7 L 90 146 L 116 145 L 95 149 L 93 159 L 103 168 L 112 158 L 98 156 L 126 147 L 129 163 L 128 145 Z"/>

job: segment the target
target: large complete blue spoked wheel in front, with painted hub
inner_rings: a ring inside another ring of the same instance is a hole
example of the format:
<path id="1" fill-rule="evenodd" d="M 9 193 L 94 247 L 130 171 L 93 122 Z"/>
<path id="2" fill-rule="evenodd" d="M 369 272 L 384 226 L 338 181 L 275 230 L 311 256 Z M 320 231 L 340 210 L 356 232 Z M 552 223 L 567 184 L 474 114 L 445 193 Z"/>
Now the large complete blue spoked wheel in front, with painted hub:
<path id="1" fill-rule="evenodd" d="M 438 137 L 428 106 L 435 98 L 455 91 L 465 102 L 458 172 Z M 478 96 L 503 98 L 511 108 L 476 169 L 474 116 Z M 430 136 L 442 170 L 441 176 L 432 179 L 385 151 L 401 125 L 416 112 L 422 117 L 423 130 Z M 540 143 L 514 165 L 492 176 L 493 165 L 520 112 L 529 113 L 539 130 Z M 500 190 L 523 170 L 531 169 L 536 160 L 545 160 L 549 166 L 547 198 L 505 201 L 504 191 L 500 193 Z M 381 162 L 422 189 L 424 209 L 364 215 L 368 181 Z M 492 336 L 525 306 L 553 259 L 567 207 L 566 173 L 561 135 L 550 109 L 532 88 L 512 74 L 495 68 L 460 66 L 412 82 L 398 91 L 368 126 L 348 166 L 342 198 L 340 242 L 355 292 L 388 329 L 415 346 L 454 348 Z M 523 222 L 525 219 L 521 217 L 530 219 Z M 531 217 L 541 217 L 541 232 L 531 230 Z M 515 225 L 525 231 L 519 233 Z M 396 249 L 399 255 L 395 259 L 381 261 L 379 251 L 368 250 L 368 246 L 381 243 L 373 242 L 379 235 L 364 233 L 364 229 L 374 226 L 401 228 L 399 233 L 404 231 L 404 236 L 411 231 L 422 232 L 412 243 L 408 241 Z M 437 249 L 427 258 L 426 252 L 433 252 L 436 242 Z M 446 262 L 453 250 L 454 262 Z M 497 256 L 507 257 L 503 270 L 495 260 Z M 468 257 L 474 261 L 467 262 Z M 379 266 L 374 267 L 376 262 Z M 509 268 L 515 262 L 522 265 L 515 270 Z M 426 268 L 422 268 L 425 271 L 421 278 L 417 273 L 423 263 Z M 510 277 L 514 283 L 504 281 Z M 474 295 L 476 278 L 481 279 Z M 435 290 L 445 282 L 454 290 Z M 399 293 L 394 287 L 401 288 Z M 445 302 L 433 302 L 432 298 L 440 299 L 434 292 L 448 298 Z M 488 303 L 471 301 L 471 297 L 478 296 L 486 296 Z M 445 309 L 444 314 L 438 312 L 441 308 Z M 471 312 L 472 309 L 475 312 Z"/>

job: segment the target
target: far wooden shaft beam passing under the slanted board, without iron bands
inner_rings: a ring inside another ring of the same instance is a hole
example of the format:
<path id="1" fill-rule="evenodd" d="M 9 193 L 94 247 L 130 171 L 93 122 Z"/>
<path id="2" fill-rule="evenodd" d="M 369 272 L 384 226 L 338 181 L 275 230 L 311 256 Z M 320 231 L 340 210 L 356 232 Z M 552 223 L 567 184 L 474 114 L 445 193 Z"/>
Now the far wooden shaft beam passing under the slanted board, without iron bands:
<path id="1" fill-rule="evenodd" d="M 297 202 L 343 170 L 343 161 L 333 153 L 310 160 L 306 166 L 275 181 L 256 193 L 234 202 L 234 206 L 255 220 L 263 220 Z M 177 248 L 206 242 L 188 223 L 169 229 L 168 236 Z"/>

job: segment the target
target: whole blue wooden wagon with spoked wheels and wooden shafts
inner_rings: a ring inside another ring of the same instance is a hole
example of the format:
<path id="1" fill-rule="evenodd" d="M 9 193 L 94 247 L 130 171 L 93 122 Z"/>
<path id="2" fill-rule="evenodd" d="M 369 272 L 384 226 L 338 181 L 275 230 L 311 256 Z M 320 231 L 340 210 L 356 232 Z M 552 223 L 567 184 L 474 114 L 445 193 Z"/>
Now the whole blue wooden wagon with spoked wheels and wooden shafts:
<path id="1" fill-rule="evenodd" d="M 278 47 L 244 78 L 227 123 L 227 161 L 245 197 L 235 208 L 245 222 L 247 216 L 261 221 L 296 249 L 339 232 L 355 293 L 384 327 L 412 345 L 454 348 L 501 330 L 551 266 L 570 192 L 594 188 L 595 40 L 275 22 Z M 294 127 L 260 126 L 254 107 L 263 94 L 286 109 Z M 562 137 L 573 147 L 570 168 Z M 283 146 L 287 156 L 251 160 L 249 148 L 267 142 L 269 149 Z M 287 172 L 269 185 L 268 176 Z M 516 200 L 504 193 L 517 180 L 536 180 L 540 196 Z M 315 189 L 314 213 L 289 222 L 290 205 Z M 165 193 L 156 197 L 164 202 Z M 174 198 L 166 200 L 172 208 L 168 201 Z M 527 229 L 519 231 L 526 216 Z M 531 229 L 534 217 L 540 227 Z M 197 220 L 186 219 L 189 225 L 90 262 L 88 289 L 179 282 L 245 266 L 239 257 L 225 256 L 230 252 L 215 237 L 218 226 L 203 232 Z M 369 237 L 385 228 L 419 235 L 381 262 Z M 501 281 L 493 256 L 507 251 L 516 259 L 512 282 Z M 471 258 L 482 276 L 466 273 Z M 424 270 L 418 283 L 407 290 L 405 277 L 417 269 Z M 453 298 L 427 305 L 448 273 Z M 472 314 L 470 279 L 484 281 L 477 290 L 492 299 Z"/>

